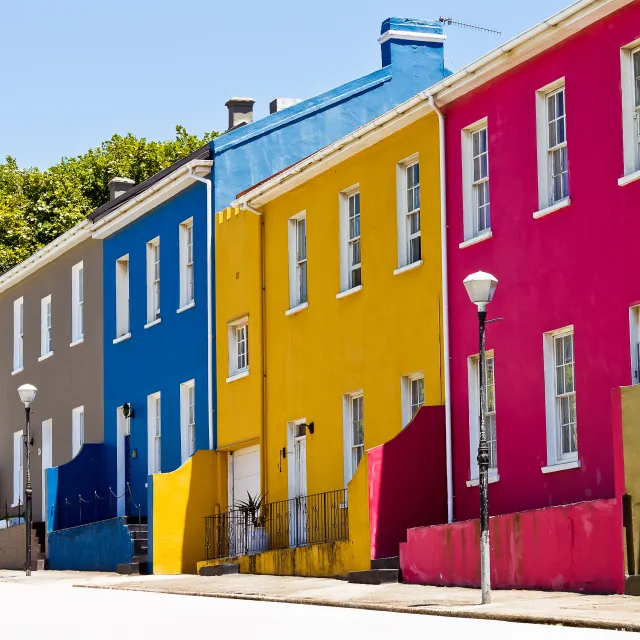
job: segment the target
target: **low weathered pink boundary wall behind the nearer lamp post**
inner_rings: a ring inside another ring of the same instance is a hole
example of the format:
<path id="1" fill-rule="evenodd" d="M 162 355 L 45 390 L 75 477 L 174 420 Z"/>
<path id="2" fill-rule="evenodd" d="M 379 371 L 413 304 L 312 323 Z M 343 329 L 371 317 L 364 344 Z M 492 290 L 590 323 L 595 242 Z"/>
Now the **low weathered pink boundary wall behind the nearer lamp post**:
<path id="1" fill-rule="evenodd" d="M 496 516 L 490 536 L 496 589 L 624 593 L 618 499 Z M 411 584 L 479 587 L 479 520 L 411 529 L 400 568 Z"/>

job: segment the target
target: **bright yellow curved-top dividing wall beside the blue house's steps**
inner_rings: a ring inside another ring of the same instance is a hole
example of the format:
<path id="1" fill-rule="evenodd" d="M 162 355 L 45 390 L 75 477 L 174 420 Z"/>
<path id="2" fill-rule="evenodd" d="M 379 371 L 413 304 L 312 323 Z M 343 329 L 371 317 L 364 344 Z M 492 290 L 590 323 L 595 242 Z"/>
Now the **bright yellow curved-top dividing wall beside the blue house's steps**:
<path id="1" fill-rule="evenodd" d="M 205 556 L 204 518 L 227 503 L 227 454 L 196 453 L 153 476 L 153 572 L 195 573 Z"/>

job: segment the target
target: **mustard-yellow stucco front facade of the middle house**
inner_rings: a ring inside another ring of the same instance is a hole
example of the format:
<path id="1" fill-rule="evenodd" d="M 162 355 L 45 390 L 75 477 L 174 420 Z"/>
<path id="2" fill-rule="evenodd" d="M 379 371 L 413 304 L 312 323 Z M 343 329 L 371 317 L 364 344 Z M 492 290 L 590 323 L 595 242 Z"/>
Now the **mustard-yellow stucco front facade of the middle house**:
<path id="1" fill-rule="evenodd" d="M 364 390 L 365 448 L 402 428 L 401 377 L 423 371 L 425 403 L 442 405 L 438 122 L 423 118 L 264 207 L 216 224 L 218 335 L 248 314 L 248 377 L 226 383 L 227 346 L 218 358 L 219 442 L 260 437 L 262 358 L 260 224 L 265 224 L 267 421 L 262 473 L 269 500 L 288 498 L 287 423 L 306 418 L 307 493 L 344 486 L 343 394 Z M 424 263 L 398 267 L 397 163 L 419 153 Z M 359 184 L 362 291 L 336 299 L 339 193 Z M 306 210 L 307 309 L 289 309 L 288 219 Z M 225 248 L 221 248 L 225 247 Z M 231 259 L 233 251 L 235 256 Z M 228 259 L 228 263 L 227 263 Z M 419 292 L 419 294 L 416 294 Z M 226 336 L 226 333 L 224 334 Z M 241 434 L 241 435 L 240 435 Z"/>

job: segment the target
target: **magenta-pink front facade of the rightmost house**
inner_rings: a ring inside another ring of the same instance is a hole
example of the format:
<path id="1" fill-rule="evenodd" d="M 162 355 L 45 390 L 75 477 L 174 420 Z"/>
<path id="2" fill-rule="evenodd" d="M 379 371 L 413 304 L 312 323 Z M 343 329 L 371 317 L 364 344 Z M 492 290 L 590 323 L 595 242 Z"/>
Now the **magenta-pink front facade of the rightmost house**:
<path id="1" fill-rule="evenodd" d="M 611 389 L 631 383 L 629 306 L 636 268 L 640 181 L 623 175 L 620 49 L 640 37 L 634 2 L 448 105 L 448 248 L 455 518 L 478 514 L 470 478 L 467 358 L 478 352 L 476 310 L 462 285 L 477 270 L 499 285 L 487 348 L 495 350 L 498 471 L 492 514 L 611 498 Z M 571 205 L 538 210 L 535 92 L 566 79 Z M 464 240 L 461 130 L 488 118 L 493 237 Z M 579 469 L 547 464 L 543 333 L 575 328 Z"/>

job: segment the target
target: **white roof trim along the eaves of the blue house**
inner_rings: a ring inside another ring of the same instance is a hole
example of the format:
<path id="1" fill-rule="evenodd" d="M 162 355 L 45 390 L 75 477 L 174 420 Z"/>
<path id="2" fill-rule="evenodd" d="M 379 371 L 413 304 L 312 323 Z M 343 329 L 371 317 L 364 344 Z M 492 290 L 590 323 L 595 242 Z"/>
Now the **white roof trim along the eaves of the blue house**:
<path id="1" fill-rule="evenodd" d="M 198 176 L 211 171 L 212 160 L 192 160 L 182 165 L 159 182 L 143 191 L 131 200 L 127 200 L 120 207 L 96 221 L 93 225 L 93 238 L 103 240 L 131 224 L 145 213 L 193 184 L 190 173 Z"/>

